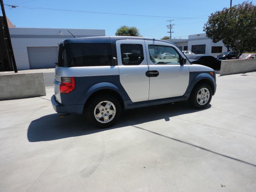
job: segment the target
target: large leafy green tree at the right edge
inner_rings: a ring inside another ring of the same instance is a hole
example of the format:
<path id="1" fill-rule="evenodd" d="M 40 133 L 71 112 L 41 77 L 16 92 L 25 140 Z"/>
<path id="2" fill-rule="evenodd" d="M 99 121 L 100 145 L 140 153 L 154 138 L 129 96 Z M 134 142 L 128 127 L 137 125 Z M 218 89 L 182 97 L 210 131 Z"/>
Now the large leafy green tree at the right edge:
<path id="1" fill-rule="evenodd" d="M 206 36 L 214 43 L 222 40 L 236 53 L 256 50 L 256 6 L 243 2 L 212 13 L 204 24 Z M 236 58 L 237 55 L 236 54 Z"/>

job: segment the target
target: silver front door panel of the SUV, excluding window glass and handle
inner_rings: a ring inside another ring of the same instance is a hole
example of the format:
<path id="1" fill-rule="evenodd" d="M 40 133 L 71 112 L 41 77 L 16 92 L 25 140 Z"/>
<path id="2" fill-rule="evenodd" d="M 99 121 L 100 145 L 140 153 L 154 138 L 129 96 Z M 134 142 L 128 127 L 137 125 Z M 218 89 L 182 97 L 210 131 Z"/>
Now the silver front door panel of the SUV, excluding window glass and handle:
<path id="1" fill-rule="evenodd" d="M 186 65 L 154 64 L 150 60 L 148 45 L 163 45 L 174 47 L 180 55 L 184 56 L 176 46 L 159 41 L 145 40 L 149 70 L 159 72 L 157 77 L 150 77 L 149 100 L 182 96 L 189 83 L 189 62 Z M 184 56 L 185 58 L 185 56 Z"/>

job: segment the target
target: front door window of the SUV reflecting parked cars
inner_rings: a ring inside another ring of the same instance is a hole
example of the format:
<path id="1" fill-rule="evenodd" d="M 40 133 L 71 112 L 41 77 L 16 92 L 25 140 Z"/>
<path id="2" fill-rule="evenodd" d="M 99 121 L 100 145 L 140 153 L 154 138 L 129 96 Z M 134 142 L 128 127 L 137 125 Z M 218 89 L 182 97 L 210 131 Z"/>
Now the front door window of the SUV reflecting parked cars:
<path id="1" fill-rule="evenodd" d="M 169 46 L 148 45 L 150 60 L 154 64 L 179 65 L 180 54 L 178 51 Z M 164 54 L 168 53 L 168 54 Z"/>

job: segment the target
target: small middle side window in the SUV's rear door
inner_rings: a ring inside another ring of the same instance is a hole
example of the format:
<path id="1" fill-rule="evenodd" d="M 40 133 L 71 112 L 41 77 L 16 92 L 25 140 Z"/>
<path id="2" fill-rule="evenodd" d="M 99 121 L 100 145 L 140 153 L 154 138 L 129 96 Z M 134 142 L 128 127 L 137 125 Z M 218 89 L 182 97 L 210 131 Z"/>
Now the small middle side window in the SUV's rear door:
<path id="1" fill-rule="evenodd" d="M 123 65 L 140 65 L 144 60 L 142 44 L 121 44 Z"/>

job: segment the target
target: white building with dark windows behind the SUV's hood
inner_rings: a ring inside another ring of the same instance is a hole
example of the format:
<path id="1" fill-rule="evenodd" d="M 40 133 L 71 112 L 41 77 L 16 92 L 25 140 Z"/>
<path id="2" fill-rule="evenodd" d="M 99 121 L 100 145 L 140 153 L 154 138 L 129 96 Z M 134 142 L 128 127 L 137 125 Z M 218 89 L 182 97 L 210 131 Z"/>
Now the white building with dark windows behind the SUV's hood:
<path id="1" fill-rule="evenodd" d="M 206 54 L 215 57 L 227 51 L 222 41 L 214 43 L 206 37 L 205 33 L 189 35 L 188 39 L 169 39 L 167 41 L 175 43 L 182 51 L 188 50 L 195 54 Z"/>

